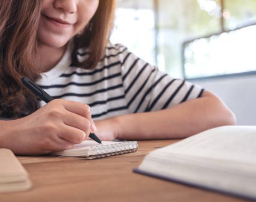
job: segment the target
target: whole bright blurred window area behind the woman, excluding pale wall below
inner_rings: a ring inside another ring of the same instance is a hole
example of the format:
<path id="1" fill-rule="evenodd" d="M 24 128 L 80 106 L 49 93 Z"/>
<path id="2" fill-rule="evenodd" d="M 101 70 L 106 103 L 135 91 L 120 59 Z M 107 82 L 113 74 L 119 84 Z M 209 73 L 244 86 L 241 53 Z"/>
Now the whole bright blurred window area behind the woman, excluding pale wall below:
<path id="1" fill-rule="evenodd" d="M 130 51 L 173 77 L 198 78 L 256 70 L 250 55 L 255 48 L 250 38 L 255 36 L 254 28 L 249 26 L 228 32 L 256 23 L 255 0 L 117 2 L 111 41 L 126 45 Z M 222 48 L 226 48 L 228 54 L 224 55 Z M 238 66 L 231 58 L 241 54 L 244 54 L 243 60 Z M 218 61 L 214 61 L 217 56 Z"/>

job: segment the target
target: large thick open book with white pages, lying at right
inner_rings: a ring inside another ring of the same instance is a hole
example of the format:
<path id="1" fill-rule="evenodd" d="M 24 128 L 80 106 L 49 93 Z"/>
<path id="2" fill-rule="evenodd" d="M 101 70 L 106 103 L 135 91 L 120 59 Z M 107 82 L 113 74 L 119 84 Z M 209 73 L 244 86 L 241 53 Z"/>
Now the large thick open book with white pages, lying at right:
<path id="1" fill-rule="evenodd" d="M 256 200 L 256 127 L 206 130 L 154 150 L 134 172 Z"/>

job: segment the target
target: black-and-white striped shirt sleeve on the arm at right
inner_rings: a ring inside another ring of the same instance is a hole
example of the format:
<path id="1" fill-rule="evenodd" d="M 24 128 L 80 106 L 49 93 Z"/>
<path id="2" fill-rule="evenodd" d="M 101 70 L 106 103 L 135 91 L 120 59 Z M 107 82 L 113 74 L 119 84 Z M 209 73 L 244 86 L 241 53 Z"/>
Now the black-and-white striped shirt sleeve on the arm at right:
<path id="1" fill-rule="evenodd" d="M 123 87 L 130 113 L 163 110 L 203 94 L 201 87 L 171 78 L 127 49 L 121 57 Z"/>

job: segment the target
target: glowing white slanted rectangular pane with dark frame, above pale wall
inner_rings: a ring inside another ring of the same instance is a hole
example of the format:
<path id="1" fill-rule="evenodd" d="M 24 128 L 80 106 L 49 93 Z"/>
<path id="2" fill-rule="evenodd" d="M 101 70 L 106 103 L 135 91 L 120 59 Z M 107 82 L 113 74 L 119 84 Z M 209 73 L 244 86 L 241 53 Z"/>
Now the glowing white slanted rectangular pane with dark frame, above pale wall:
<path id="1" fill-rule="evenodd" d="M 256 71 L 256 24 L 184 44 L 186 79 Z"/>

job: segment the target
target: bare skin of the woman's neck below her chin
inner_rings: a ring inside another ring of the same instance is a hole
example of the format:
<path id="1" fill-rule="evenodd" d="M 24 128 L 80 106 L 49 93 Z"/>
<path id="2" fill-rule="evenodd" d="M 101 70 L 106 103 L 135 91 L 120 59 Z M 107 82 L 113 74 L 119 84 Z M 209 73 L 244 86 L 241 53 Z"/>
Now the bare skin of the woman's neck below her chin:
<path id="1" fill-rule="evenodd" d="M 66 51 L 67 45 L 60 48 L 53 48 L 38 44 L 36 53 L 36 64 L 40 72 L 47 72 L 54 68 L 61 60 Z"/>

